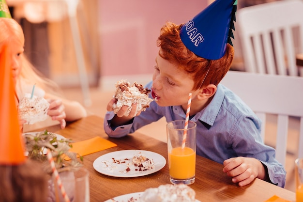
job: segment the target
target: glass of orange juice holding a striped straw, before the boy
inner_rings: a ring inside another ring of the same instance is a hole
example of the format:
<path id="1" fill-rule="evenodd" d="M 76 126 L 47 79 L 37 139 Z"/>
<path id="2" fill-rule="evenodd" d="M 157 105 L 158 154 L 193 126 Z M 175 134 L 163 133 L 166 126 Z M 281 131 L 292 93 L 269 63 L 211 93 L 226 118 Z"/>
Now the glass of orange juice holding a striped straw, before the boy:
<path id="1" fill-rule="evenodd" d="M 196 175 L 197 124 L 189 121 L 184 129 L 185 121 L 177 120 L 167 123 L 166 128 L 170 183 L 191 185 Z"/>

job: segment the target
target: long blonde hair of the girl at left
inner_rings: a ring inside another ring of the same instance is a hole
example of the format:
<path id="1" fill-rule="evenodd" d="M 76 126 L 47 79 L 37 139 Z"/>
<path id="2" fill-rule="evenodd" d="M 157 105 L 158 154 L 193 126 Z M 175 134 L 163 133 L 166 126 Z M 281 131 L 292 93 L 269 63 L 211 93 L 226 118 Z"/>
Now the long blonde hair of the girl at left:
<path id="1" fill-rule="evenodd" d="M 10 46 L 10 42 L 15 41 L 20 46 L 24 46 L 24 33 L 21 26 L 12 18 L 0 18 L 0 49 L 4 46 Z M 59 86 L 49 78 L 46 78 L 40 73 L 26 58 L 21 54 L 22 69 L 19 75 L 19 80 L 24 81 L 29 85 L 36 84 L 48 93 L 58 94 Z M 18 82 L 20 84 L 20 82 Z M 21 84 L 20 84 L 21 85 Z"/>

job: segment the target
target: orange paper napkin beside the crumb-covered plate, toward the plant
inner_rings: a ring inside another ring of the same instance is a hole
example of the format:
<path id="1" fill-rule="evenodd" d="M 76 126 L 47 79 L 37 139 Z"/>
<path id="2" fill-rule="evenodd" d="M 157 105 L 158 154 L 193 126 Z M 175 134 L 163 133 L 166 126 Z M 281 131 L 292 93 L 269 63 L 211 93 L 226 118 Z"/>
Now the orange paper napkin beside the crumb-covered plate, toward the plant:
<path id="1" fill-rule="evenodd" d="M 73 148 L 71 148 L 69 151 L 70 152 L 75 152 L 78 155 L 89 155 L 95 152 L 99 152 L 111 147 L 117 146 L 117 144 L 100 138 L 99 136 L 91 138 L 89 140 L 83 140 L 83 141 L 78 141 L 75 143 L 72 143 Z M 69 157 L 66 157 L 65 160 L 70 160 Z"/>

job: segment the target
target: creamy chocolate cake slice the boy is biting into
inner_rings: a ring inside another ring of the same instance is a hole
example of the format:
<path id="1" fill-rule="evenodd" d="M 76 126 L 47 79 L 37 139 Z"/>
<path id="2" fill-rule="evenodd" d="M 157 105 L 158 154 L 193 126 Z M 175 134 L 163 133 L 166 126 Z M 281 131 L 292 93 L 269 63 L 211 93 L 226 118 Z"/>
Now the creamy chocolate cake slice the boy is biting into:
<path id="1" fill-rule="evenodd" d="M 137 103 L 136 114 L 138 111 L 145 111 L 150 107 L 152 98 L 148 96 L 151 90 L 144 88 L 141 84 L 134 82 L 132 85 L 127 80 L 120 80 L 116 83 L 116 91 L 114 97 L 117 102 L 113 105 L 115 114 L 122 106 L 128 106 L 125 115 L 129 115 L 132 105 Z"/>

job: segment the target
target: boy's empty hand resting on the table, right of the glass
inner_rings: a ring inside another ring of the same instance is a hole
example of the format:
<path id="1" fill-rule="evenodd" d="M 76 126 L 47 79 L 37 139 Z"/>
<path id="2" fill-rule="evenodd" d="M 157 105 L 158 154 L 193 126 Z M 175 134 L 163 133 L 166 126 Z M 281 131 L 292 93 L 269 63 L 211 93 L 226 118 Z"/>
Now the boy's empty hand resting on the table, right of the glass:
<path id="1" fill-rule="evenodd" d="M 250 184 L 256 177 L 264 179 L 265 169 L 263 164 L 256 158 L 234 157 L 223 162 L 223 171 L 232 177 L 233 183 L 239 186 Z"/>

